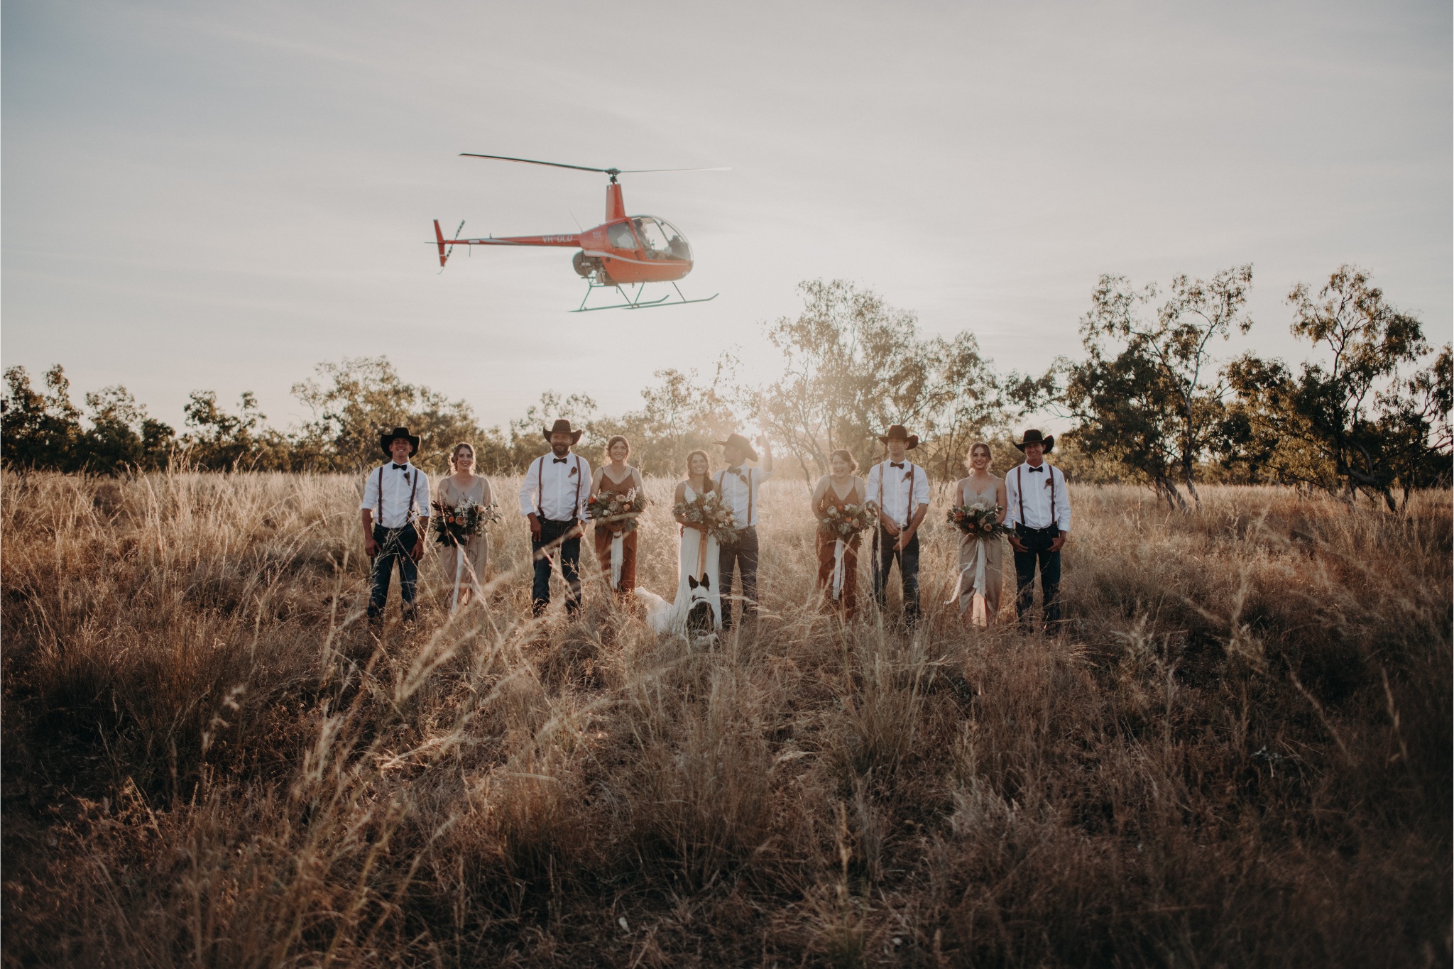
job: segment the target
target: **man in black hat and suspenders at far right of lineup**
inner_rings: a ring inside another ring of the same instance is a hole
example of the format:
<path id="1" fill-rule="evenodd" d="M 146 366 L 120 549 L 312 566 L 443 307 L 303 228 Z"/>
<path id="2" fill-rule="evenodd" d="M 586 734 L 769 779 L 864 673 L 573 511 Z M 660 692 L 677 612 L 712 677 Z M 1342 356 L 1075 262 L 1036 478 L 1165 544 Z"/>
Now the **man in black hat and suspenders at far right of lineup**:
<path id="1" fill-rule="evenodd" d="M 1045 455 L 1056 449 L 1054 434 L 1027 430 L 1015 446 L 1025 455 L 1024 463 L 1005 475 L 1005 524 L 1012 529 L 1009 543 L 1015 549 L 1015 612 L 1024 626 L 1035 601 L 1038 565 L 1045 631 L 1054 632 L 1060 625 L 1060 549 L 1070 538 L 1070 495 L 1064 472 L 1045 463 Z"/>

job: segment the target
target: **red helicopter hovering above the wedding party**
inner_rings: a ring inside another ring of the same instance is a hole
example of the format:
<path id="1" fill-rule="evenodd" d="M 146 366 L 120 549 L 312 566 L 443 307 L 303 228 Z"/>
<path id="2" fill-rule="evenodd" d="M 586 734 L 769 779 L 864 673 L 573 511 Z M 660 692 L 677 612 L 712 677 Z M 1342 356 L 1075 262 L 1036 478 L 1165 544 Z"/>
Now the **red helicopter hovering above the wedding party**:
<path id="1" fill-rule="evenodd" d="M 727 171 L 727 169 L 589 169 L 579 164 L 561 164 L 558 161 L 537 161 L 534 158 L 510 158 L 506 155 L 480 155 L 468 151 L 461 153 L 462 158 L 494 158 L 497 161 L 523 161 L 525 164 L 544 164 L 554 169 L 574 169 L 577 171 L 601 171 L 611 182 L 606 185 L 606 221 L 592 230 L 585 230 L 574 235 L 507 235 L 496 238 L 459 238 L 464 222 L 455 230 L 455 238 L 445 238 L 435 219 L 435 244 L 439 247 L 439 269 L 443 272 L 445 263 L 454 253 L 455 246 L 558 246 L 579 248 L 571 259 L 571 266 L 586 280 L 586 296 L 580 307 L 571 312 L 589 312 L 592 309 L 644 309 L 647 307 L 680 307 L 689 302 L 708 302 L 717 299 L 720 293 L 712 293 L 702 299 L 688 299 L 682 295 L 676 280 L 692 272 L 692 247 L 686 244 L 686 237 L 663 218 L 654 215 L 627 215 L 625 202 L 621 199 L 619 174 L 640 174 L 647 171 Z M 660 299 L 641 299 L 641 292 L 647 283 L 672 283 L 678 299 L 670 299 L 666 293 Z M 628 293 L 625 286 L 635 286 L 634 293 Z M 587 307 L 590 293 L 596 289 L 615 288 L 624 302 L 609 307 Z"/>

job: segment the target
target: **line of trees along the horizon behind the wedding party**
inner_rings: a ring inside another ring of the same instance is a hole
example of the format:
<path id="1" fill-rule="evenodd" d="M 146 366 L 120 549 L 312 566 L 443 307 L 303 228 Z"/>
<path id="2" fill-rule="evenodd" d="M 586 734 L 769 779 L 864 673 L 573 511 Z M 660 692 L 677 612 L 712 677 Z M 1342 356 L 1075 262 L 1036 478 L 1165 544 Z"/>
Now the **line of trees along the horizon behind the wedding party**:
<path id="1" fill-rule="evenodd" d="M 4 370 L 0 461 L 10 469 L 122 474 L 167 466 L 215 471 L 356 472 L 378 461 L 381 430 L 407 424 L 423 437 L 417 463 L 446 466 L 449 449 L 474 445 L 484 474 L 519 472 L 541 453 L 541 427 L 567 417 L 586 429 L 582 453 L 601 461 L 612 434 L 632 442 L 644 474 L 676 475 L 686 455 L 743 424 L 781 447 L 804 478 L 827 471 L 838 447 L 868 463 L 877 434 L 906 424 L 920 434 L 916 461 L 939 479 L 963 474 L 979 439 L 1000 455 L 1035 415 L 1069 424 L 1057 463 L 1072 479 L 1138 482 L 1169 507 L 1198 501 L 1198 482 L 1284 484 L 1358 492 L 1397 508 L 1418 488 L 1451 479 L 1451 350 L 1435 350 L 1421 321 L 1400 312 L 1371 277 L 1335 270 L 1316 292 L 1288 293 L 1291 331 L 1309 359 L 1290 365 L 1214 349 L 1252 327 L 1252 267 L 1211 279 L 1176 276 L 1166 289 L 1102 276 L 1080 320 L 1083 356 L 1060 356 L 1040 375 L 1000 373 L 968 330 L 925 336 L 915 314 L 842 280 L 800 286 L 795 317 L 765 324 L 781 352 L 775 379 L 739 381 L 724 354 L 707 376 L 657 370 L 641 407 L 601 414 L 586 395 L 542 394 L 507 426 L 484 427 L 464 400 L 406 382 L 384 357 L 320 363 L 292 386 L 313 414 L 291 430 L 266 423 L 244 392 L 234 411 L 193 391 L 180 433 L 147 415 L 121 385 L 71 401 L 60 365 L 35 388 L 25 368 Z"/>

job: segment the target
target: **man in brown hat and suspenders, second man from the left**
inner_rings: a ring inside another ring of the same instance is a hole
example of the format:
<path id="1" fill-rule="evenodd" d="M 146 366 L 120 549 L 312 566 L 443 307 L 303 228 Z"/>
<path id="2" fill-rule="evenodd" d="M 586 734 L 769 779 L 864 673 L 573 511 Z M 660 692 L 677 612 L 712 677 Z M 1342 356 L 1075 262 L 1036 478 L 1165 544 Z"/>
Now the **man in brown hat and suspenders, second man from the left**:
<path id="1" fill-rule="evenodd" d="M 566 580 L 566 612 L 571 616 L 580 612 L 580 522 L 590 500 L 590 465 L 570 449 L 583 433 L 571 430 L 569 420 L 555 421 L 545 431 L 550 453 L 531 462 L 521 484 L 521 514 L 531 522 L 535 556 L 531 612 L 537 616 L 550 606 L 551 559 L 557 552 Z"/>

